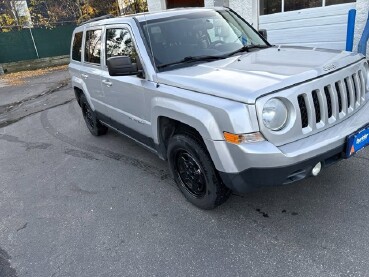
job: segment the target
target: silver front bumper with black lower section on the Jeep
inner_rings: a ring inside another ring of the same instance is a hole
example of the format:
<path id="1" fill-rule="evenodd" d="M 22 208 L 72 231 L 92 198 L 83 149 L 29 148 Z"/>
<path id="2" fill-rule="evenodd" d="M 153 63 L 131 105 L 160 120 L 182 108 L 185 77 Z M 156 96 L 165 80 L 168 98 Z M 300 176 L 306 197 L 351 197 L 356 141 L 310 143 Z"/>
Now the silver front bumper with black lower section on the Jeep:
<path id="1" fill-rule="evenodd" d="M 233 145 L 214 142 L 215 165 L 225 185 L 247 192 L 263 186 L 304 179 L 322 162 L 323 167 L 344 157 L 346 138 L 369 123 L 369 104 L 355 114 L 317 134 L 276 147 L 268 141 Z"/>

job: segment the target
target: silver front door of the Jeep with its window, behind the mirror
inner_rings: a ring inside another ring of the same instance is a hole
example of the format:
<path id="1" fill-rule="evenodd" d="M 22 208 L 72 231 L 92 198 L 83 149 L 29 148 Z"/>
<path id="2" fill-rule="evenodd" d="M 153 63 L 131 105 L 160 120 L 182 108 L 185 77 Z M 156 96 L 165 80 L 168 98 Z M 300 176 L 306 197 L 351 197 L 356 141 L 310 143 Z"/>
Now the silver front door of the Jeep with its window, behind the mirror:
<path id="1" fill-rule="evenodd" d="M 148 143 L 145 134 L 150 130 L 150 123 L 143 119 L 145 107 L 145 85 L 147 80 L 137 75 L 110 76 L 106 60 L 110 57 L 129 56 L 136 63 L 134 37 L 128 25 L 109 26 L 105 30 L 103 72 L 101 85 L 104 91 L 106 122 L 112 127 L 144 144 Z M 104 119 L 103 119 L 104 120 Z M 150 145 L 151 146 L 151 145 Z"/>

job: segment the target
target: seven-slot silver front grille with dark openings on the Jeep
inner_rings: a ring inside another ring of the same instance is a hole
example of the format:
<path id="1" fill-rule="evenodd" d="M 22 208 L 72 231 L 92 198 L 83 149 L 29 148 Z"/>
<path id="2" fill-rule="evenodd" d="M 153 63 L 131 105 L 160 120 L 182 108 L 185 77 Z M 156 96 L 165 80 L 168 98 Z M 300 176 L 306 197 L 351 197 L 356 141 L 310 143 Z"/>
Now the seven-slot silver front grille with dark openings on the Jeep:
<path id="1" fill-rule="evenodd" d="M 297 96 L 302 129 L 323 128 L 347 117 L 365 102 L 365 79 L 356 73 Z"/>

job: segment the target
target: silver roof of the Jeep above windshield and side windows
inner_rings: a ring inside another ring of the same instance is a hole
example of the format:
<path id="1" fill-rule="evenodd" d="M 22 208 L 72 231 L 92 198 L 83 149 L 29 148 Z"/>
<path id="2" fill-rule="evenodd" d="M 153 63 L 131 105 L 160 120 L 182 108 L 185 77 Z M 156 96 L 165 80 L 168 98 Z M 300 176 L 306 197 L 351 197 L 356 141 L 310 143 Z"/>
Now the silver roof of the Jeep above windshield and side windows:
<path id="1" fill-rule="evenodd" d="M 138 13 L 138 14 L 124 15 L 124 16 L 117 16 L 114 18 L 101 19 L 101 20 L 99 20 L 99 18 L 96 18 L 96 21 L 94 21 L 93 19 L 89 20 L 88 22 L 82 23 L 79 27 L 82 27 L 82 26 L 92 27 L 92 26 L 112 25 L 112 24 L 130 23 L 130 22 L 132 23 L 132 21 L 134 20 L 137 20 L 139 22 L 144 22 L 148 20 L 186 15 L 189 13 L 198 13 L 198 12 L 214 11 L 214 10 L 226 10 L 226 9 L 227 8 L 225 7 L 177 8 L 177 9 L 158 11 L 158 12 Z"/>

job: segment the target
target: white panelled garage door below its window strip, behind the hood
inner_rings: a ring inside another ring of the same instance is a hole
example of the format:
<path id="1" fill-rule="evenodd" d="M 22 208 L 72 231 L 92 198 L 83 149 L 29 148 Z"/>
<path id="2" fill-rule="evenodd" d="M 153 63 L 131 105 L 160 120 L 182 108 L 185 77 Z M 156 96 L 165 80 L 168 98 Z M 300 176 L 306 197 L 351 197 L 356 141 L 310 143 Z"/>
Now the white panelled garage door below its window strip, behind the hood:
<path id="1" fill-rule="evenodd" d="M 344 50 L 347 16 L 355 3 L 260 16 L 259 28 L 272 44 L 302 45 Z"/>

